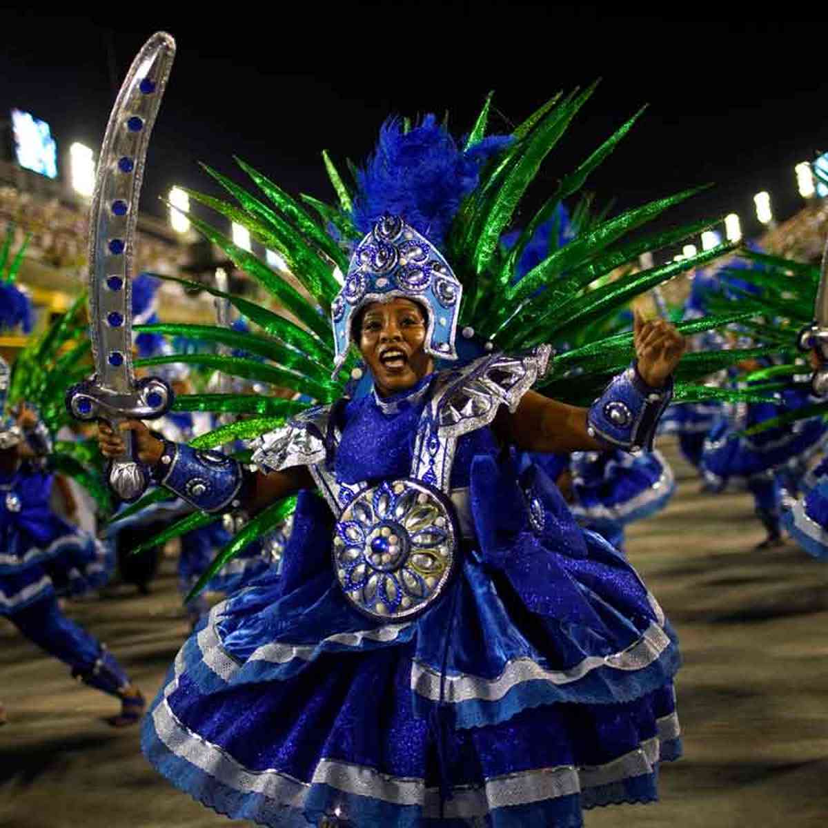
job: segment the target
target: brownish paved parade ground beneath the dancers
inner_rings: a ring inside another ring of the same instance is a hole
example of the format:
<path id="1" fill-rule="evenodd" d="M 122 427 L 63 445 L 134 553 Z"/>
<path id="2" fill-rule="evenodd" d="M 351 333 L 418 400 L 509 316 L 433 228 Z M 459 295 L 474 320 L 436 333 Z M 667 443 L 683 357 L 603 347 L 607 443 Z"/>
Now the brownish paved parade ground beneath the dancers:
<path id="1" fill-rule="evenodd" d="M 674 458 L 672 451 L 668 455 Z M 662 802 L 599 809 L 587 828 L 817 828 L 828 825 L 828 566 L 762 537 L 744 494 L 680 490 L 633 527 L 628 552 L 681 636 L 677 691 L 686 757 L 664 768 Z M 169 564 L 169 562 L 168 562 Z M 167 569 L 170 569 L 167 566 Z M 185 636 L 175 581 L 149 598 L 115 590 L 70 613 L 147 692 Z M 242 825 L 176 792 L 144 762 L 117 705 L 0 623 L 0 828 Z"/>

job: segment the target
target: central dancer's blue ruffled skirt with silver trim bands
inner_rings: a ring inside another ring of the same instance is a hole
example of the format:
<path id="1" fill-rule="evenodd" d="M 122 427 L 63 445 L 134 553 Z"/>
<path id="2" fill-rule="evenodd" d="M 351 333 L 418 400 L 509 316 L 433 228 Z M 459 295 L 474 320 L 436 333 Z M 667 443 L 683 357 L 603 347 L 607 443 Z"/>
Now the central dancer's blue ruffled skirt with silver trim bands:
<path id="1" fill-rule="evenodd" d="M 476 539 L 445 595 L 382 624 L 344 599 L 330 512 L 301 493 L 282 574 L 176 657 L 147 758 L 268 826 L 578 828 L 586 807 L 656 799 L 681 753 L 662 610 L 539 469 L 518 483 L 477 458 L 469 499 Z"/>

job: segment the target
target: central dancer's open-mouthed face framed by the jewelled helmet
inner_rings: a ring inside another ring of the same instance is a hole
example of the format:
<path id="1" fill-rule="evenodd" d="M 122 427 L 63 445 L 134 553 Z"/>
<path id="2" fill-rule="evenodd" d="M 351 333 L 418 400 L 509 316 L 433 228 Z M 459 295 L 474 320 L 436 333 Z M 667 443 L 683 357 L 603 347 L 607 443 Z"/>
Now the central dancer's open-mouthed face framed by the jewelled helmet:
<path id="1" fill-rule="evenodd" d="M 354 334 L 380 397 L 412 388 L 434 370 L 424 350 L 426 327 L 425 311 L 410 299 L 372 302 L 363 310 Z"/>

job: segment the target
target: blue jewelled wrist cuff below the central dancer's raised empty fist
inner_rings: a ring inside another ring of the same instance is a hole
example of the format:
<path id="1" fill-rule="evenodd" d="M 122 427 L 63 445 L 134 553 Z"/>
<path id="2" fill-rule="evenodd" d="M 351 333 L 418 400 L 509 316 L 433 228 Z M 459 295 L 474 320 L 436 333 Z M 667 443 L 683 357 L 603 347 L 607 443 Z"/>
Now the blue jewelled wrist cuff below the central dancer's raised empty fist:
<path id="1" fill-rule="evenodd" d="M 673 381 L 662 388 L 644 382 L 633 363 L 614 377 L 587 415 L 590 437 L 627 451 L 652 451 L 658 421 L 672 400 Z"/>

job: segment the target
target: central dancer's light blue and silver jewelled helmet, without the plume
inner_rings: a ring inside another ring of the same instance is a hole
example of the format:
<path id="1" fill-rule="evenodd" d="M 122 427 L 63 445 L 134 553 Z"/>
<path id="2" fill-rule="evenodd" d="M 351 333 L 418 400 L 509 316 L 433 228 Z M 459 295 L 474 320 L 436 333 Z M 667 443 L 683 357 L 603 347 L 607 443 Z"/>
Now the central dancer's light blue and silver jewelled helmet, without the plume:
<path id="1" fill-rule="evenodd" d="M 351 323 L 369 302 L 405 297 L 425 307 L 426 354 L 457 359 L 455 333 L 463 286 L 440 251 L 395 215 L 383 215 L 354 251 L 344 286 L 331 305 L 335 371 L 354 343 Z"/>

